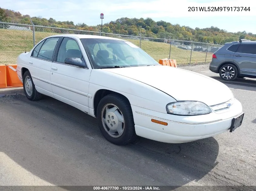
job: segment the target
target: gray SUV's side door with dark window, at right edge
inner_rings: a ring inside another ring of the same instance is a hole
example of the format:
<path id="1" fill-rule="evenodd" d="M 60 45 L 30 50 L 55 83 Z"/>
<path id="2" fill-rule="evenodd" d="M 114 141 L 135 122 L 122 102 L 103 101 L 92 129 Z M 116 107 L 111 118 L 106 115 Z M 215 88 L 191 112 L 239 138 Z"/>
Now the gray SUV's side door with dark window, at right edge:
<path id="1" fill-rule="evenodd" d="M 234 53 L 234 62 L 240 68 L 240 74 L 256 75 L 256 44 L 240 44 Z"/>

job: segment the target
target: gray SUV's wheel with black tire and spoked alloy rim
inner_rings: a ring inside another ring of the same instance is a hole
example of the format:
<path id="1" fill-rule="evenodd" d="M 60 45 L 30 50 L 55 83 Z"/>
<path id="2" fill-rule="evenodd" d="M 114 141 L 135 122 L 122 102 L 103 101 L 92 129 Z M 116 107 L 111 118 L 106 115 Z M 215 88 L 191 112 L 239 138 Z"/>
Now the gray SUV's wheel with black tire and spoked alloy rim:
<path id="1" fill-rule="evenodd" d="M 229 73 L 227 73 L 228 71 Z M 219 75 L 222 80 L 233 81 L 238 77 L 238 69 L 233 64 L 225 64 L 221 66 Z"/>

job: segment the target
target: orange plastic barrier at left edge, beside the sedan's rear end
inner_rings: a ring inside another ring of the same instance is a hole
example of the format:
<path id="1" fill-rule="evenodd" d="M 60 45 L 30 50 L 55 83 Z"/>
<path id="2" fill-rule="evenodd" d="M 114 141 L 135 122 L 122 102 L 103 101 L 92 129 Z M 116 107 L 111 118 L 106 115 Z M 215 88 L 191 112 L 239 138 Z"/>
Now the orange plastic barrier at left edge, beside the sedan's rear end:
<path id="1" fill-rule="evenodd" d="M 17 65 L 0 65 L 0 88 L 22 87 L 16 68 Z"/>

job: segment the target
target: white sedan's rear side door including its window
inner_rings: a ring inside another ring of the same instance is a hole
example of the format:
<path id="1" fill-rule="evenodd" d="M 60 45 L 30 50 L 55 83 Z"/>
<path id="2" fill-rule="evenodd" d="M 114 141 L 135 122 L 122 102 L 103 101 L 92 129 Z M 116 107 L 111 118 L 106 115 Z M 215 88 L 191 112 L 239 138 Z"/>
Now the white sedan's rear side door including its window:
<path id="1" fill-rule="evenodd" d="M 55 47 L 60 37 L 50 37 L 39 43 L 29 60 L 29 70 L 38 92 L 53 97 L 50 70 Z"/>

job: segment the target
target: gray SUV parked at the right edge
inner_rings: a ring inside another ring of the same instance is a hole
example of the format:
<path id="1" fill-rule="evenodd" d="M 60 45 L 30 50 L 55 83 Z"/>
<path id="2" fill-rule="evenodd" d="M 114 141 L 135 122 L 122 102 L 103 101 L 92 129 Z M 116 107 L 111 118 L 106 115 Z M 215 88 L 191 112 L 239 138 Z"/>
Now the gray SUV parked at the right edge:
<path id="1" fill-rule="evenodd" d="M 256 41 L 225 43 L 212 55 L 209 69 L 227 81 L 256 78 Z"/>

